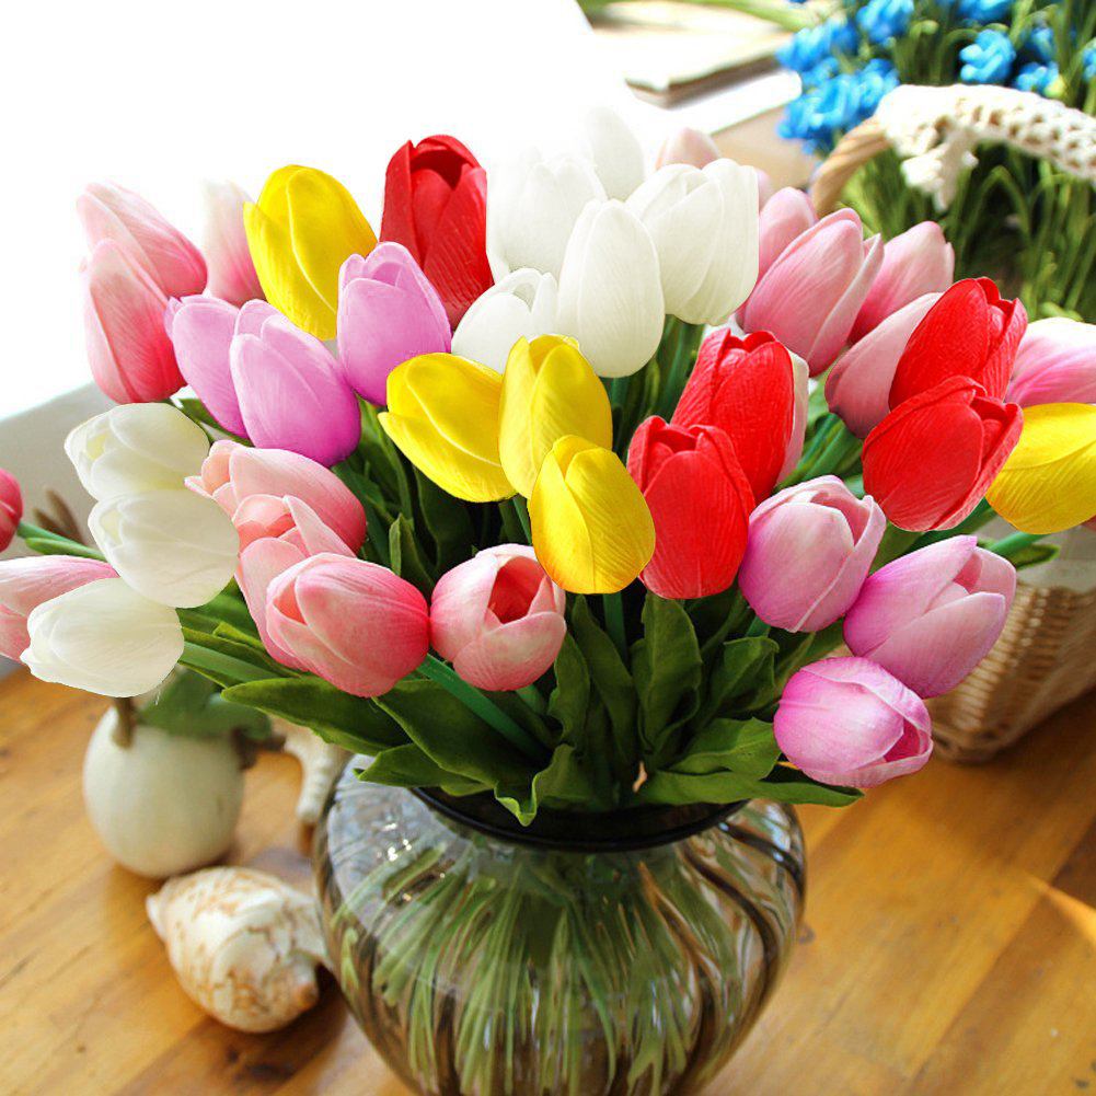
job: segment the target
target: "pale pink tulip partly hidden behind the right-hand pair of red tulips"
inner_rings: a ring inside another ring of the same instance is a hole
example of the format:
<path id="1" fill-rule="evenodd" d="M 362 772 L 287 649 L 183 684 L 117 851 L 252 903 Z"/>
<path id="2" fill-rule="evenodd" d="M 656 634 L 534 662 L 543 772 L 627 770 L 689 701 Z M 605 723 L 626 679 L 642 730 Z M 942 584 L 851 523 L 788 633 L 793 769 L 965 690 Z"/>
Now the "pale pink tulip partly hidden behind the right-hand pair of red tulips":
<path id="1" fill-rule="evenodd" d="M 940 294 L 926 293 L 888 316 L 826 374 L 826 403 L 857 437 L 867 437 L 890 413 L 890 390 L 902 351 L 939 299 Z"/>

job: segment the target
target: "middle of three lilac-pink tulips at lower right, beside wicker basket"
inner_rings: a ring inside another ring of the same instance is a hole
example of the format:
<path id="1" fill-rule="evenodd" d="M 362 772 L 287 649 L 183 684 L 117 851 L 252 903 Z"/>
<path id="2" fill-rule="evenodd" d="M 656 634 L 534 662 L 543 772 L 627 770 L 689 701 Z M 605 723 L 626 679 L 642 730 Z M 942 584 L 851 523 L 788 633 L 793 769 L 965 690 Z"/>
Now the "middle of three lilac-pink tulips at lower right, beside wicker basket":
<path id="1" fill-rule="evenodd" d="M 869 575 L 845 617 L 845 642 L 918 696 L 939 696 L 997 641 L 1015 593 L 1008 560 L 975 537 L 951 537 Z"/>

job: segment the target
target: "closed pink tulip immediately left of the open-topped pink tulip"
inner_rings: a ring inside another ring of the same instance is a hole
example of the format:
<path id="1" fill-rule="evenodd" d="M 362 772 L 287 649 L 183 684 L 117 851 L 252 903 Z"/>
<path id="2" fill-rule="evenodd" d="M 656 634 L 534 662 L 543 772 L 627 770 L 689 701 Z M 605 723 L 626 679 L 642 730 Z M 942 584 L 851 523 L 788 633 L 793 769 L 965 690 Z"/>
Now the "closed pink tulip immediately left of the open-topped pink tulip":
<path id="1" fill-rule="evenodd" d="M 353 696 L 379 696 L 430 647 L 426 600 L 377 563 L 321 553 L 278 575 L 266 595 L 275 644 Z"/>

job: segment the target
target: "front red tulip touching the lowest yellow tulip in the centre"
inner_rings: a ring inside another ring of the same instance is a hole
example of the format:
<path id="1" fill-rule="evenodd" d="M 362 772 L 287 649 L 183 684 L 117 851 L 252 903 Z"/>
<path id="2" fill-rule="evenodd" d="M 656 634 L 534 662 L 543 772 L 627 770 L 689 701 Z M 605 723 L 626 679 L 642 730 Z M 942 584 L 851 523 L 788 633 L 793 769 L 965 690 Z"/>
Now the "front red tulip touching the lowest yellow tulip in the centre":
<path id="1" fill-rule="evenodd" d="M 648 419 L 628 471 L 654 521 L 654 556 L 640 578 L 660 597 L 706 597 L 734 581 L 746 550 L 753 492 L 718 426 Z"/>

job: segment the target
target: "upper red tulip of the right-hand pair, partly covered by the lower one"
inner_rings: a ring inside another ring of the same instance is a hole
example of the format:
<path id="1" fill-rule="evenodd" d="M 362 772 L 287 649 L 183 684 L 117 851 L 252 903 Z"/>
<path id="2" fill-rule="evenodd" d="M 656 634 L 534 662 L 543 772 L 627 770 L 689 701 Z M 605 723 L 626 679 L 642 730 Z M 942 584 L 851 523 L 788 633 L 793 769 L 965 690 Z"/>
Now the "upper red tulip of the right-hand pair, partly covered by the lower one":
<path id="1" fill-rule="evenodd" d="M 910 335 L 894 370 L 890 406 L 947 377 L 969 377 L 985 395 L 1001 399 L 1026 330 L 1024 306 L 1003 300 L 989 278 L 956 282 Z"/>

